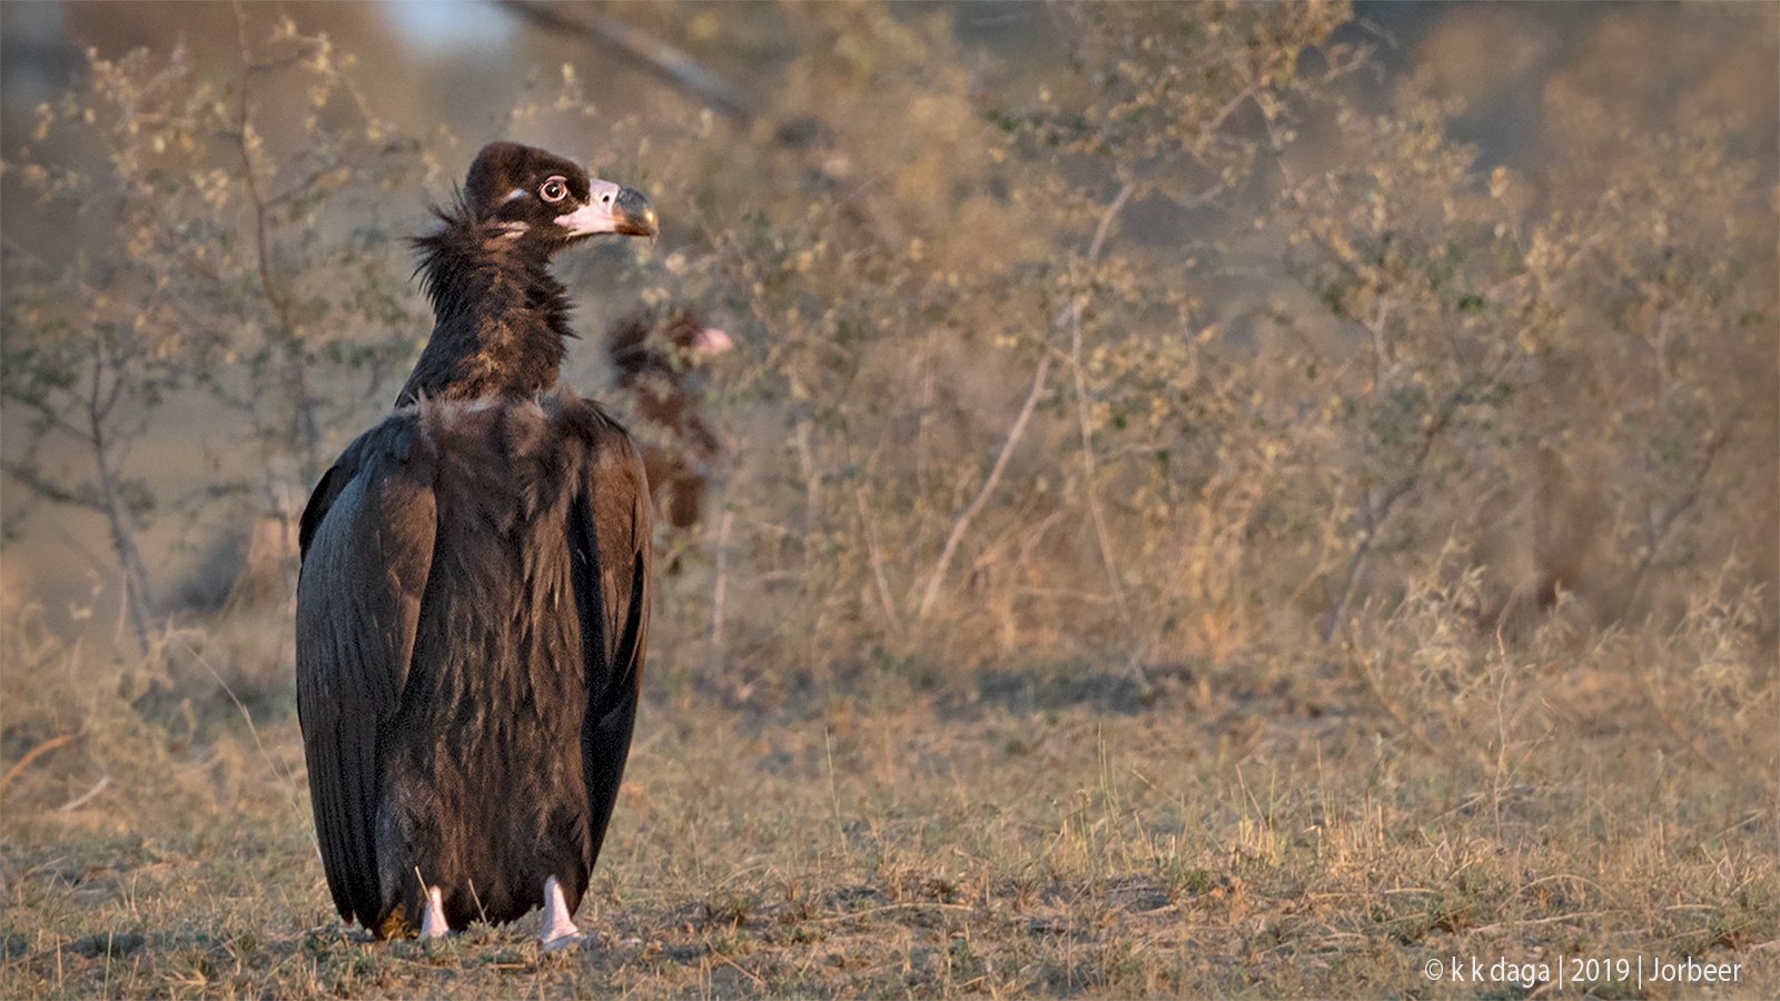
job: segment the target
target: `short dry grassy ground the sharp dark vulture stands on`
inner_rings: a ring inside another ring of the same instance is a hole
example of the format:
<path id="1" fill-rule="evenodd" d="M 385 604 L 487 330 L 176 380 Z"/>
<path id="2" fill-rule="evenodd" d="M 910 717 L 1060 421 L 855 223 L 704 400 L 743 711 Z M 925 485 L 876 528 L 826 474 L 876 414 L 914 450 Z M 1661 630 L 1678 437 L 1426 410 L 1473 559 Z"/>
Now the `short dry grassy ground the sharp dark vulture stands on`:
<path id="1" fill-rule="evenodd" d="M 669 657 L 580 912 L 605 944 L 548 956 L 536 917 L 340 924 L 276 671 L 203 654 L 246 631 L 123 670 L 14 622 L 0 996 L 1584 996 L 1424 976 L 1451 956 L 1702 956 L 1739 980 L 1588 990 L 1775 996 L 1755 606 L 1515 654 L 1468 600 L 1145 684 L 862 664 L 764 707 Z"/>

